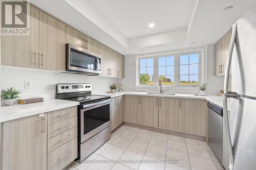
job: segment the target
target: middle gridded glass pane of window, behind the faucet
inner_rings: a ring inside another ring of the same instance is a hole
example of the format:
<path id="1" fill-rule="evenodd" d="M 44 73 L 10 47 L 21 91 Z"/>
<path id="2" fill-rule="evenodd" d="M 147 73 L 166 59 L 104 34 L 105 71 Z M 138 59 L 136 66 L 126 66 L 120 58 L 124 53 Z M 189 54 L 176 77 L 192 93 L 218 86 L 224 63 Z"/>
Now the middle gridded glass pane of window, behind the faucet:
<path id="1" fill-rule="evenodd" d="M 158 58 L 158 75 L 163 85 L 174 85 L 174 56 Z"/>

